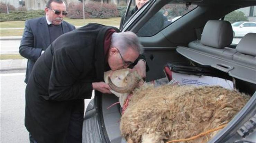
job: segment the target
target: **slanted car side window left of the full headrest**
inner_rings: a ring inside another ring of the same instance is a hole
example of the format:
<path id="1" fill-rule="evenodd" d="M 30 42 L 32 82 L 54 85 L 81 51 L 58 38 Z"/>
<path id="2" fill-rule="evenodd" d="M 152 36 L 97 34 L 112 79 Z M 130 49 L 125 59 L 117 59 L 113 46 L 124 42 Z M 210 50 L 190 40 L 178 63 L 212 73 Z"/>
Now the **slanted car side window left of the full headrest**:
<path id="1" fill-rule="evenodd" d="M 166 26 L 172 24 L 184 14 L 190 12 L 197 5 L 190 5 L 186 8 L 185 4 L 166 4 L 152 18 L 150 18 L 136 33 L 139 37 L 153 36 Z"/>

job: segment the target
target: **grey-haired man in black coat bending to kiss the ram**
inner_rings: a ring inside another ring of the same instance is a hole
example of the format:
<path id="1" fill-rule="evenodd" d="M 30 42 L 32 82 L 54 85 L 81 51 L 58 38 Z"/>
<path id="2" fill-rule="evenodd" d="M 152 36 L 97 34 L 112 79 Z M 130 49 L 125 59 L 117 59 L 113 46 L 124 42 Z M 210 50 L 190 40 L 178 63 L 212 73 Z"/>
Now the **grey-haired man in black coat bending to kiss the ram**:
<path id="1" fill-rule="evenodd" d="M 146 72 L 137 36 L 117 32 L 88 24 L 61 35 L 38 58 L 25 109 L 25 126 L 36 142 L 81 143 L 84 99 L 91 98 L 93 89 L 95 96 L 110 93 L 104 71 L 135 66 Z"/>

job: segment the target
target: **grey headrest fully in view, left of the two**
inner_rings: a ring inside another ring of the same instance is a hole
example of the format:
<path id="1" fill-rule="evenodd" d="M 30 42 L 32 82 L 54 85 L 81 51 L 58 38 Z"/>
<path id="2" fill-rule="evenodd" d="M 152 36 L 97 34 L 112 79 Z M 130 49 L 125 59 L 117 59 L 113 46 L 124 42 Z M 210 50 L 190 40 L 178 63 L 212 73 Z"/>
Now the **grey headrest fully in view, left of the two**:
<path id="1" fill-rule="evenodd" d="M 201 43 L 215 48 L 229 46 L 233 40 L 232 26 L 228 21 L 209 20 L 203 29 Z"/>

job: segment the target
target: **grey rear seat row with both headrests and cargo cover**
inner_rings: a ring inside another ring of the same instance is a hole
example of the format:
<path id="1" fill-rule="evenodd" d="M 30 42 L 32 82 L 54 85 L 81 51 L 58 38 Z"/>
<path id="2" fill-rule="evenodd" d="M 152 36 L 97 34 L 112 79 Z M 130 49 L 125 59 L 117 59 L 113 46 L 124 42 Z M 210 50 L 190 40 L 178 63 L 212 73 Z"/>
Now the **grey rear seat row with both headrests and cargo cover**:
<path id="1" fill-rule="evenodd" d="M 204 27 L 201 41 L 193 41 L 189 47 L 179 46 L 176 51 L 200 65 L 256 84 L 256 33 L 246 34 L 236 49 L 231 49 L 226 47 L 232 40 L 230 32 L 230 23 L 210 20 Z"/>

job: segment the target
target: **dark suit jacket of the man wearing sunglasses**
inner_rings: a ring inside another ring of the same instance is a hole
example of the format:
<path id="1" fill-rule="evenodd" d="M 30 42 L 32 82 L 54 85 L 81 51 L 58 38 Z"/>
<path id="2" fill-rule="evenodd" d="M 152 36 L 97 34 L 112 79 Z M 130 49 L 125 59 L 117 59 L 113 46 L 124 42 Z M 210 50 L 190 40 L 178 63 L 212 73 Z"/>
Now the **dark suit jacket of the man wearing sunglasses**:
<path id="1" fill-rule="evenodd" d="M 63 33 L 70 32 L 75 26 L 63 21 Z M 30 19 L 25 22 L 24 33 L 20 42 L 19 53 L 28 59 L 25 83 L 27 83 L 31 70 L 40 56 L 42 50 L 51 44 L 48 25 L 45 17 Z"/>

